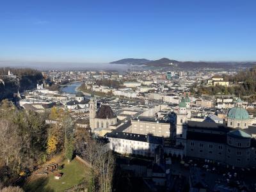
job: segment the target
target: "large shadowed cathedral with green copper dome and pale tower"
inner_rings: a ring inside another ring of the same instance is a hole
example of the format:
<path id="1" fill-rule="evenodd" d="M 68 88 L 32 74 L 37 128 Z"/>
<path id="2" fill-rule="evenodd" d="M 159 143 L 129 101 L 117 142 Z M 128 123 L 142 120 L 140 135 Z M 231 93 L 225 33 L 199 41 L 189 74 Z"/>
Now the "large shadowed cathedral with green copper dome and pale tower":
<path id="1" fill-rule="evenodd" d="M 182 98 L 179 103 L 175 126 L 176 146 L 182 157 L 211 159 L 237 167 L 256 166 L 256 119 L 243 108 L 240 98 L 223 124 L 191 120 L 186 102 L 188 98 Z"/>

